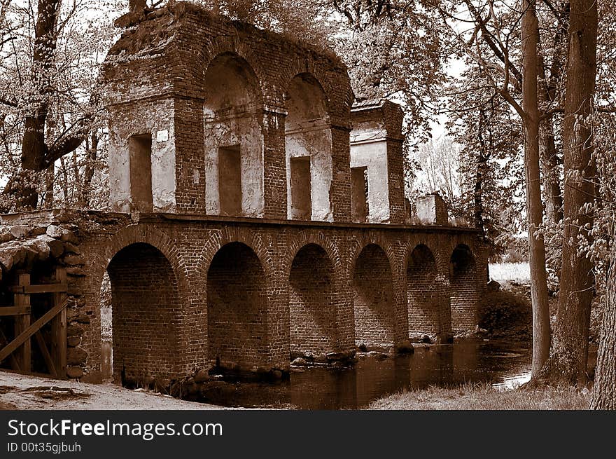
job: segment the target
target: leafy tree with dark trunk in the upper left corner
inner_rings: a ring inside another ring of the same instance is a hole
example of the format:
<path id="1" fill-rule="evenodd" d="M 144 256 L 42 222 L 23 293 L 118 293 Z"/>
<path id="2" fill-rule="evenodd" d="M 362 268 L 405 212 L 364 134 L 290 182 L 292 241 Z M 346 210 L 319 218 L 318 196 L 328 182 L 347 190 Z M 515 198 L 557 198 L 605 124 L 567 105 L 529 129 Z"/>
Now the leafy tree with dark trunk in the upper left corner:
<path id="1" fill-rule="evenodd" d="M 84 139 L 99 137 L 98 65 L 116 33 L 102 18 L 117 5 L 40 0 L 27 8 L 4 1 L 0 160 L 8 184 L 3 211 L 37 207 L 39 198 L 50 205 L 55 162 L 75 152 L 84 155 Z"/>

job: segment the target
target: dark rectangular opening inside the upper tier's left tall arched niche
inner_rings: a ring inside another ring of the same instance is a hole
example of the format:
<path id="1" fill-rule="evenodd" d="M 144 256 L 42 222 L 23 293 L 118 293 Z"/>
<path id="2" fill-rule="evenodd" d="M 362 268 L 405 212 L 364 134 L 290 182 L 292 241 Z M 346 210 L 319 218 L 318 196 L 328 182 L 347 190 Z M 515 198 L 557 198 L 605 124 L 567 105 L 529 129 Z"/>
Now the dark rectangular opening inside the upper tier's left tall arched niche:
<path id="1" fill-rule="evenodd" d="M 218 191 L 221 215 L 241 215 L 241 152 L 239 145 L 218 149 Z"/>

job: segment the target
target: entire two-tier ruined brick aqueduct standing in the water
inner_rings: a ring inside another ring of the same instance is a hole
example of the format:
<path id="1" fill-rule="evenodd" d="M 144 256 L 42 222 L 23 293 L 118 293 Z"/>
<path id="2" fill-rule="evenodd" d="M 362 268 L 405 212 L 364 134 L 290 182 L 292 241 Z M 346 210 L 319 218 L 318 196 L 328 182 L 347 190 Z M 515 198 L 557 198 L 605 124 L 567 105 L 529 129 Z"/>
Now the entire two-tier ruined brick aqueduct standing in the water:
<path id="1" fill-rule="evenodd" d="M 435 196 L 411 224 L 401 110 L 353 106 L 337 57 L 180 2 L 125 32 L 105 78 L 113 212 L 2 217 L 70 241 L 47 261 L 68 266 L 69 376 L 101 379 L 105 273 L 125 379 L 475 328 L 482 238 Z"/>

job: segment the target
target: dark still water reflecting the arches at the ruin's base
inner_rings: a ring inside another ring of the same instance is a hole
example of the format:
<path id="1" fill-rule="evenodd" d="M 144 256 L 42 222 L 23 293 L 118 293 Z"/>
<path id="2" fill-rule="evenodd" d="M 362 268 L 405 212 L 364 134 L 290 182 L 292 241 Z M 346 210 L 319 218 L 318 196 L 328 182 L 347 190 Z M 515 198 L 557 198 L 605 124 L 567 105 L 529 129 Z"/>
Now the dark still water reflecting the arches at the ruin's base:
<path id="1" fill-rule="evenodd" d="M 200 402 L 223 406 L 357 409 L 372 400 L 410 388 L 489 381 L 513 388 L 528 381 L 528 344 L 458 341 L 416 348 L 412 355 L 361 357 L 353 368 L 309 367 L 291 371 L 289 381 L 211 381 Z"/>

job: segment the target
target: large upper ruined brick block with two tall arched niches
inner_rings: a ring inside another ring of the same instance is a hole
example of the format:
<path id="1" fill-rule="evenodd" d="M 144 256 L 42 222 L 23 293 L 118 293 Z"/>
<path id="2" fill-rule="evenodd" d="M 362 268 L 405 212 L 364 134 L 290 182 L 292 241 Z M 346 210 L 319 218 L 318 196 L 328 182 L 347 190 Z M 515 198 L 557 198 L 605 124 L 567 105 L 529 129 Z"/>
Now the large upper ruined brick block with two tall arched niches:
<path id="1" fill-rule="evenodd" d="M 339 57 L 174 2 L 125 30 L 104 79 L 113 210 L 350 220 Z"/>

